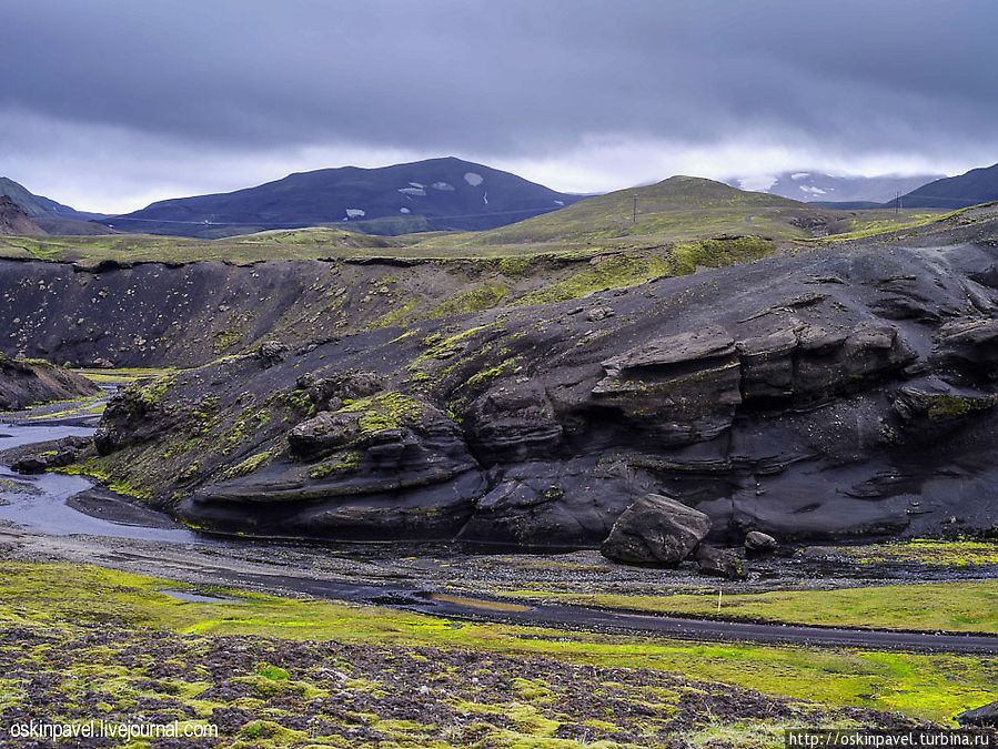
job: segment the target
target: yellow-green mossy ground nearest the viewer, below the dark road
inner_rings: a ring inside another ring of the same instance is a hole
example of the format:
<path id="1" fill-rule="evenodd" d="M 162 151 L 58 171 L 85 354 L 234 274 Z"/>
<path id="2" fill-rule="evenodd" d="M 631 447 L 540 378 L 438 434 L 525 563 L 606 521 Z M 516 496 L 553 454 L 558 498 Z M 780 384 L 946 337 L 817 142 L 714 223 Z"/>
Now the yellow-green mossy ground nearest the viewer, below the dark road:
<path id="1" fill-rule="evenodd" d="M 179 588 L 97 567 L 0 563 L 0 723 L 152 705 L 228 726 L 224 746 L 656 746 L 676 735 L 768 747 L 787 726 L 887 725 L 847 706 L 946 722 L 995 699 L 998 684 L 998 658 L 695 644 L 163 593 Z"/>

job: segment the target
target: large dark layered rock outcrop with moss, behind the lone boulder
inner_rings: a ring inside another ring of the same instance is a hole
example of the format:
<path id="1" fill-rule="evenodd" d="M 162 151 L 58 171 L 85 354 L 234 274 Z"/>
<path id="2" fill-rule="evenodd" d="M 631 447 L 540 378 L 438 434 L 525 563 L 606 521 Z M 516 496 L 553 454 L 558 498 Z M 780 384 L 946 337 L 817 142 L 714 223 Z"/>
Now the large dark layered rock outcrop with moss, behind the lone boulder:
<path id="1" fill-rule="evenodd" d="M 996 523 L 998 250 L 854 246 L 271 346 L 122 393 L 94 472 L 220 532 L 596 546 Z"/>

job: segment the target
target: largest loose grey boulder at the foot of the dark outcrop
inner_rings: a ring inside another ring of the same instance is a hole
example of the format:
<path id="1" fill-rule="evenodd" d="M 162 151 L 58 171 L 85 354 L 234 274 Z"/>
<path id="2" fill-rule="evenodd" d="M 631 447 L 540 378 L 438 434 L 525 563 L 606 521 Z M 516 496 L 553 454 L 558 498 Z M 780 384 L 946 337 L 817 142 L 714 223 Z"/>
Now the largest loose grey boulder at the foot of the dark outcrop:
<path id="1" fill-rule="evenodd" d="M 710 532 L 710 518 L 661 494 L 648 494 L 625 509 L 601 551 L 631 564 L 678 565 Z"/>

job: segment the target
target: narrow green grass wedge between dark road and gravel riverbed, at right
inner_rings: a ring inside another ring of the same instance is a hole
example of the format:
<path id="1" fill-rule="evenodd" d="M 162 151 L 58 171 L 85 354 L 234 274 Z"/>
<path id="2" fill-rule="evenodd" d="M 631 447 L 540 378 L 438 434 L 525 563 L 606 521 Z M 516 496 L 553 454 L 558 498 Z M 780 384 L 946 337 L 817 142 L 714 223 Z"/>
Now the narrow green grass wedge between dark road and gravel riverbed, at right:
<path id="1" fill-rule="evenodd" d="M 517 591 L 537 597 L 534 591 Z M 774 621 L 825 627 L 868 627 L 998 635 L 998 579 L 884 585 L 837 590 L 775 590 L 722 595 L 628 596 L 543 594 L 606 608 Z M 718 607 L 719 603 L 719 607 Z"/>

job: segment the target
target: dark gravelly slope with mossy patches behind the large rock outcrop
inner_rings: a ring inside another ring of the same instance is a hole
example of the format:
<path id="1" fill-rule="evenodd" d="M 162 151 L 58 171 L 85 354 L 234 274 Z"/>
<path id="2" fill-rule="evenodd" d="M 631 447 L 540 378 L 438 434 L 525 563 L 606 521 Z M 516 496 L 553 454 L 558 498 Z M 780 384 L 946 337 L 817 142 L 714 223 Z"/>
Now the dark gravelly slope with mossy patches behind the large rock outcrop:
<path id="1" fill-rule="evenodd" d="M 0 260 L 0 351 L 83 366 L 190 367 L 274 337 L 305 345 L 477 312 L 558 283 L 637 283 L 658 267 L 654 255 L 619 253 L 242 265 Z"/>

